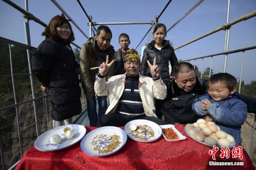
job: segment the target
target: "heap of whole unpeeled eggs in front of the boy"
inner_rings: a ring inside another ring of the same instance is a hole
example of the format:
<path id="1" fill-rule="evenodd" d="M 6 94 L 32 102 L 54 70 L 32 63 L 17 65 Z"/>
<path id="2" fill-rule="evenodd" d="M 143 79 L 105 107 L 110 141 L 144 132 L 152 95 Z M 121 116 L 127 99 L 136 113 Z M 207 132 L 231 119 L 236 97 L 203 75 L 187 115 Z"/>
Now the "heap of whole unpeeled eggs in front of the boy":
<path id="1" fill-rule="evenodd" d="M 220 127 L 213 122 L 206 123 L 204 119 L 198 119 L 194 124 L 188 123 L 185 127 L 193 138 L 201 142 L 218 144 L 225 148 L 234 145 L 234 137 L 220 130 Z"/>

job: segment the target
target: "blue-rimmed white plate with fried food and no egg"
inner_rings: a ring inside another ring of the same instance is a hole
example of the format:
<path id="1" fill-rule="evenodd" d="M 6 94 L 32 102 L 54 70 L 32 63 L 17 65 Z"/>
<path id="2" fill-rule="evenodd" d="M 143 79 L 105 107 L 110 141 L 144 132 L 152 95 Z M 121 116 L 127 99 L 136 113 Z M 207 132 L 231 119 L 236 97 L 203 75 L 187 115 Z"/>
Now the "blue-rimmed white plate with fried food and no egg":
<path id="1" fill-rule="evenodd" d="M 81 150 L 91 156 L 107 156 L 120 150 L 127 141 L 123 129 L 114 126 L 97 128 L 84 136 Z"/>

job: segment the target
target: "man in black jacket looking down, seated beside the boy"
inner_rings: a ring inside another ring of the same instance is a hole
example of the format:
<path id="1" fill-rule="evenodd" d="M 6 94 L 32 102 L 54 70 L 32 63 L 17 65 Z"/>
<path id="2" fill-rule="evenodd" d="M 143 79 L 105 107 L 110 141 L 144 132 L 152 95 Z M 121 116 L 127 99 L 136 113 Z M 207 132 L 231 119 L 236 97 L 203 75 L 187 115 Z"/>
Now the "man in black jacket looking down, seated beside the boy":
<path id="1" fill-rule="evenodd" d="M 173 75 L 167 98 L 161 104 L 164 121 L 170 124 L 194 123 L 197 116 L 192 110 L 192 104 L 197 97 L 207 93 L 207 86 L 196 76 L 195 69 L 190 63 L 176 65 Z"/>

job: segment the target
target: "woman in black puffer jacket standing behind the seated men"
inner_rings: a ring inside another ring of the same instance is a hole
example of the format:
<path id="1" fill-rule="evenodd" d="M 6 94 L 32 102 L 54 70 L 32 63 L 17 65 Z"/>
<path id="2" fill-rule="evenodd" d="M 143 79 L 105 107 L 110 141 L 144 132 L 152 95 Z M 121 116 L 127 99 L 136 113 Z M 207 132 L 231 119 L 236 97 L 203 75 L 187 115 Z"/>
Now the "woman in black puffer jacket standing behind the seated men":
<path id="1" fill-rule="evenodd" d="M 174 66 L 178 64 L 178 59 L 171 46 L 172 43 L 169 40 L 164 40 L 165 36 L 165 25 L 157 24 L 154 29 L 154 40 L 147 45 L 143 52 L 140 74 L 152 77 L 147 60 L 153 65 L 154 58 L 156 57 L 156 64 L 160 70 L 160 77 L 168 88 L 172 77 L 172 72 L 171 74 L 169 73 L 169 61 L 173 70 Z M 158 118 L 161 118 L 162 114 L 160 113 L 161 108 L 159 108 L 159 102 L 161 102 L 161 100 L 156 99 L 156 115 Z"/>

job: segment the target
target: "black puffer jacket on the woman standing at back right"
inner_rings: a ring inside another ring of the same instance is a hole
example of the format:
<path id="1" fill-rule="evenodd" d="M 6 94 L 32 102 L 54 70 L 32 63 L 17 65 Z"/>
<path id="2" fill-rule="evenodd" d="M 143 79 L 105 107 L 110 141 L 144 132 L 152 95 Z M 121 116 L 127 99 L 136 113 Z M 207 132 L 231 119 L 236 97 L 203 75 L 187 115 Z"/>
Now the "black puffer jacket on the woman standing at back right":
<path id="1" fill-rule="evenodd" d="M 164 40 L 164 47 L 161 50 L 155 48 L 155 43 L 156 42 L 154 40 L 151 41 L 143 52 L 140 74 L 152 77 L 147 60 L 149 60 L 151 65 L 153 65 L 154 58 L 156 57 L 156 64 L 160 70 L 160 77 L 168 87 L 170 84 L 169 61 L 171 62 L 173 70 L 173 67 L 178 64 L 178 59 L 174 53 L 174 49 L 171 46 L 172 43 L 170 41 Z"/>

